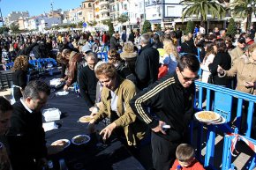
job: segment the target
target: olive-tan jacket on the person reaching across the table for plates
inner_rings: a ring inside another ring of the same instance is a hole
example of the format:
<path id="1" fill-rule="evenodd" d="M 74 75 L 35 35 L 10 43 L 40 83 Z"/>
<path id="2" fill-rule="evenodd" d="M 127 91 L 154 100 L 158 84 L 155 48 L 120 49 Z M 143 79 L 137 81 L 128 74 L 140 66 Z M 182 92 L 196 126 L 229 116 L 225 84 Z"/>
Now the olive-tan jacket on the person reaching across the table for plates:
<path id="1" fill-rule="evenodd" d="M 146 135 L 147 125 L 132 112 L 129 105 L 130 100 L 136 94 L 136 87 L 132 81 L 117 77 L 118 87 L 115 93 L 118 96 L 117 110 L 118 119 L 114 121 L 118 127 L 124 129 L 124 134 L 129 145 L 136 145 L 138 140 Z M 124 102 L 124 104 L 123 104 Z M 125 107 L 125 108 L 124 108 Z M 97 115 L 94 115 L 95 122 L 100 122 L 111 115 L 111 93 L 108 88 L 102 88 L 102 105 Z"/>

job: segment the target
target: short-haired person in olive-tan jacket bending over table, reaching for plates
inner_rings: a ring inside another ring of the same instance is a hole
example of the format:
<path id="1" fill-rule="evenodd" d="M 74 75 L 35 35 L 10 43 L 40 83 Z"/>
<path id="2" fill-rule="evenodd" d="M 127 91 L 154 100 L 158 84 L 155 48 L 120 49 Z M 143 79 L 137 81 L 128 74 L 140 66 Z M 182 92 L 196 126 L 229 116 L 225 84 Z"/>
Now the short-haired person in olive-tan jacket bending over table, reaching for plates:
<path id="1" fill-rule="evenodd" d="M 102 83 L 102 105 L 99 112 L 89 123 L 92 132 L 94 123 L 110 118 L 110 124 L 102 129 L 103 140 L 110 137 L 114 129 L 124 129 L 128 145 L 137 145 L 146 136 L 146 124 L 140 122 L 132 112 L 129 101 L 136 93 L 132 81 L 117 75 L 117 69 L 111 63 L 102 63 L 95 70 L 96 77 Z"/>

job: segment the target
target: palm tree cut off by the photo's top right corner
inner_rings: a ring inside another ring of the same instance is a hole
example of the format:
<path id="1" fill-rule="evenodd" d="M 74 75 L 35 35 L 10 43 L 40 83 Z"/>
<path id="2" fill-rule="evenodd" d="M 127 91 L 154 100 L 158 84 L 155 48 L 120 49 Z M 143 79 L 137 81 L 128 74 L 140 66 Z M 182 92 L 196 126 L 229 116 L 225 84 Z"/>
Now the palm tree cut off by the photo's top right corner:
<path id="1" fill-rule="evenodd" d="M 230 11 L 233 12 L 234 15 L 247 18 L 246 30 L 250 30 L 252 23 L 252 13 L 255 12 L 254 1 L 255 0 L 235 0 L 230 4 Z"/>

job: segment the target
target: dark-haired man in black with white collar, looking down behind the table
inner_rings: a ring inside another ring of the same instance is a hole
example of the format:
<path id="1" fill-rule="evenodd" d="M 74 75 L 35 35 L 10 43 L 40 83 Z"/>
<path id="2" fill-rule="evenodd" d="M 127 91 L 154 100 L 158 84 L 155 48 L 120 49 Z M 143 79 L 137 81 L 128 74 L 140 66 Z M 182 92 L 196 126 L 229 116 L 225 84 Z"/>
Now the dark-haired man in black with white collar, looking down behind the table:
<path id="1" fill-rule="evenodd" d="M 41 107 L 48 100 L 49 85 L 31 81 L 23 98 L 13 105 L 8 142 L 13 170 L 35 170 L 47 164 L 45 132 L 42 128 Z"/>

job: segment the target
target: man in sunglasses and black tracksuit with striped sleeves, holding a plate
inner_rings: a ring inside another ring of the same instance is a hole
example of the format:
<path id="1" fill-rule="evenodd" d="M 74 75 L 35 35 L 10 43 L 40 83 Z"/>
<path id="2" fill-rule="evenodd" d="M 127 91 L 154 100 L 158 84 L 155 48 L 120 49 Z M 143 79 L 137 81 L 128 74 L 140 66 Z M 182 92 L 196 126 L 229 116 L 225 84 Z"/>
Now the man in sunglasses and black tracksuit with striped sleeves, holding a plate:
<path id="1" fill-rule="evenodd" d="M 152 159 L 156 170 L 169 170 L 177 145 L 185 142 L 193 115 L 193 81 L 199 69 L 195 55 L 184 55 L 176 71 L 139 92 L 130 102 L 133 112 L 152 129 Z M 157 118 L 148 113 L 148 107 Z"/>

